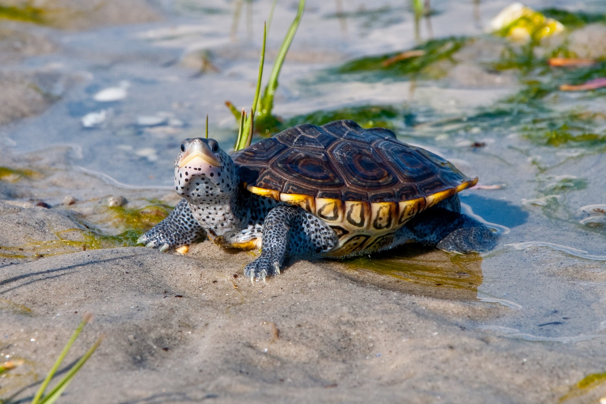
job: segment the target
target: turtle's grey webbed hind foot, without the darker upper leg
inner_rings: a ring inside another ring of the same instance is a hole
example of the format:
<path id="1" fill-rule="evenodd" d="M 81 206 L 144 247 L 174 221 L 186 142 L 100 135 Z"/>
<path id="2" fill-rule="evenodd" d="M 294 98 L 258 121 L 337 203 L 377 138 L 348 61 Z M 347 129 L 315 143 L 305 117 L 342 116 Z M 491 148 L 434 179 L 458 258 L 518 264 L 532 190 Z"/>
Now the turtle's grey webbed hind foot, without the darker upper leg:
<path id="1" fill-rule="evenodd" d="M 496 245 L 497 235 L 485 226 L 461 227 L 448 234 L 436 247 L 456 254 L 488 251 Z"/>

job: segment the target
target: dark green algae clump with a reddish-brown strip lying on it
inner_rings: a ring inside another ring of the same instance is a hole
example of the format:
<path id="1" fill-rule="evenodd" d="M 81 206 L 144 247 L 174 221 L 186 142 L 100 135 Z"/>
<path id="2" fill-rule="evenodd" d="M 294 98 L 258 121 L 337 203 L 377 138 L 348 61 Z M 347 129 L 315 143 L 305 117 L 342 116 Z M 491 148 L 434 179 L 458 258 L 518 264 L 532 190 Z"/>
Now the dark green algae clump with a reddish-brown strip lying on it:
<path id="1" fill-rule="evenodd" d="M 450 37 L 441 39 L 431 39 L 424 44 L 418 45 L 406 52 L 411 56 L 399 59 L 404 52 L 393 52 L 377 56 L 365 56 L 364 58 L 354 59 L 335 69 L 335 73 L 373 73 L 372 76 L 363 78 L 384 79 L 384 78 L 410 78 L 410 76 L 422 75 L 428 73 L 428 67 L 435 62 L 451 58 L 468 41 L 464 37 Z"/>

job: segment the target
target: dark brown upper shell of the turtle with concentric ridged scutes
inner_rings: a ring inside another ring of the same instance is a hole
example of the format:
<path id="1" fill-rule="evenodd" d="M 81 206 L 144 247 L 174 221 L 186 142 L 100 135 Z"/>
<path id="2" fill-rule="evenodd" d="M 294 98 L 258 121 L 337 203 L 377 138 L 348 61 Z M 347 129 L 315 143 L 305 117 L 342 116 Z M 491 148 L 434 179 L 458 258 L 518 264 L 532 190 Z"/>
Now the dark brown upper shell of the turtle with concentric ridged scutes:
<path id="1" fill-rule="evenodd" d="M 444 158 L 398 141 L 391 130 L 362 129 L 353 121 L 291 127 L 232 157 L 242 182 L 276 195 L 400 202 L 454 194 L 477 181 Z"/>

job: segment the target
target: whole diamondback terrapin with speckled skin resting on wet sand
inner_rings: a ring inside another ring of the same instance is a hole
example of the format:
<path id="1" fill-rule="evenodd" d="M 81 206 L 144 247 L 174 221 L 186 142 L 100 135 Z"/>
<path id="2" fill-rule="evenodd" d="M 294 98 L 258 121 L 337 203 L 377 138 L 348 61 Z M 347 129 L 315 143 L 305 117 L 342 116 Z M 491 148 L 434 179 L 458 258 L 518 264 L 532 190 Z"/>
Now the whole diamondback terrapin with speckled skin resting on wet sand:
<path id="1" fill-rule="evenodd" d="M 261 249 L 251 281 L 285 257 L 351 257 L 418 242 L 468 254 L 496 232 L 461 213 L 466 177 L 444 158 L 381 127 L 301 124 L 228 155 L 216 140 L 185 139 L 175 160 L 175 209 L 138 243 L 161 251 L 202 235 Z"/>

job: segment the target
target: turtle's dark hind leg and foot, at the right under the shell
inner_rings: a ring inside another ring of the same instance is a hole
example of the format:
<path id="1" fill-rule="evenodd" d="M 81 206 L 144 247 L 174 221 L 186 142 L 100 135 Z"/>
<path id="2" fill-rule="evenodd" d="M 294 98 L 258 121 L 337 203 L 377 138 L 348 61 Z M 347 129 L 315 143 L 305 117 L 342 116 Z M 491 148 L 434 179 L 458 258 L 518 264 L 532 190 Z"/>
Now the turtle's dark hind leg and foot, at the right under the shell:
<path id="1" fill-rule="evenodd" d="M 442 206 L 431 207 L 417 215 L 399 232 L 408 235 L 411 241 L 458 254 L 488 251 L 497 242 L 496 233 L 484 224 Z"/>

